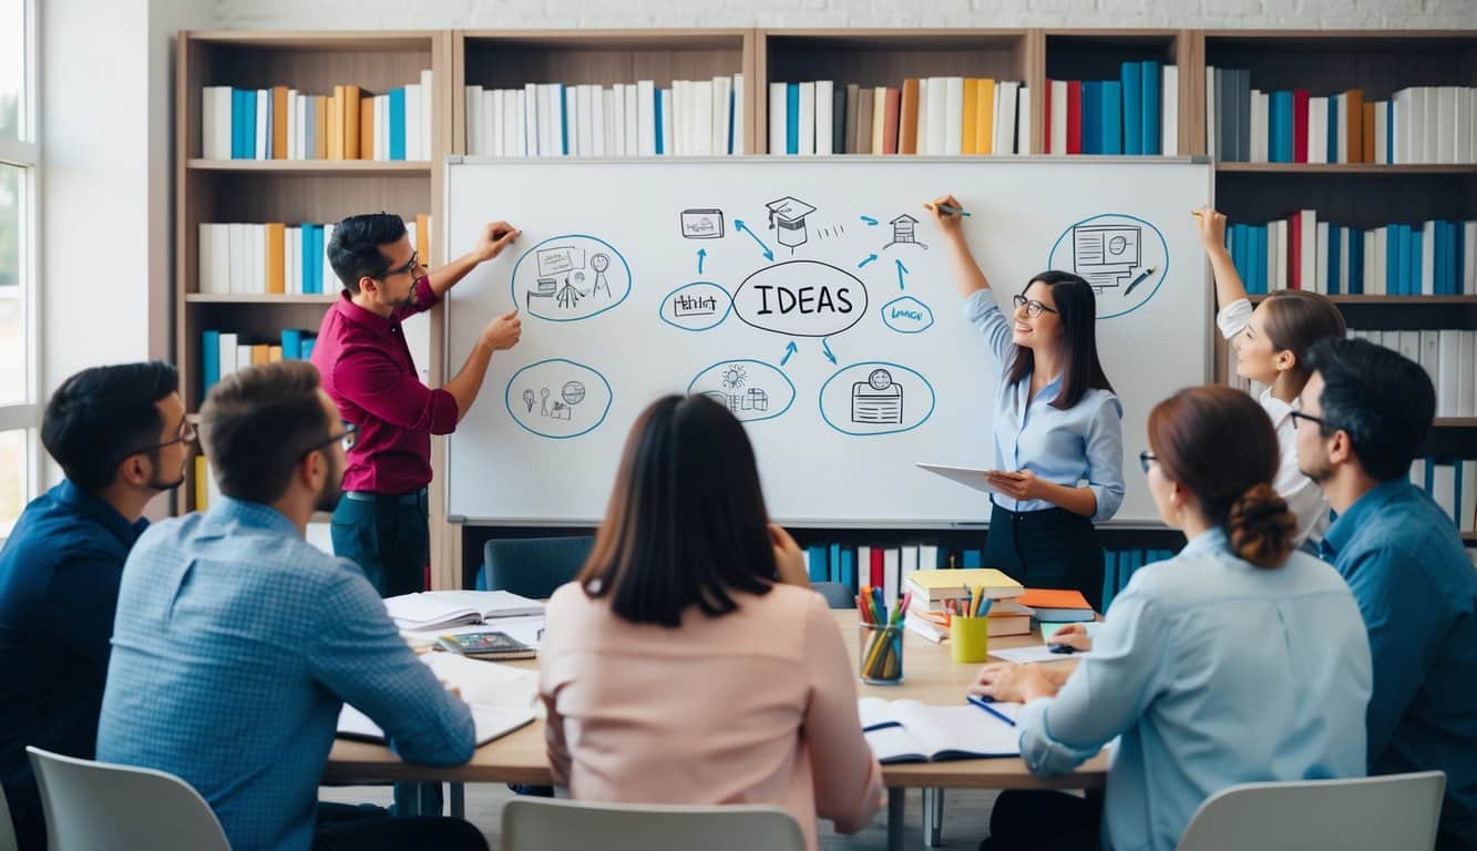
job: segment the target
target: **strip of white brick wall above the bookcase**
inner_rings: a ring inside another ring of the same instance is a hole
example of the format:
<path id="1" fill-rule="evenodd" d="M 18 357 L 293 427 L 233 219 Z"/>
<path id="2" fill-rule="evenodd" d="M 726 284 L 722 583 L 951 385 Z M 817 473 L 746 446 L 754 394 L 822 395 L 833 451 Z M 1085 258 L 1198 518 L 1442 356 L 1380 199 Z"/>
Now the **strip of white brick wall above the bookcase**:
<path id="1" fill-rule="evenodd" d="M 1477 0 L 216 0 L 220 27 L 1471 28 Z"/>

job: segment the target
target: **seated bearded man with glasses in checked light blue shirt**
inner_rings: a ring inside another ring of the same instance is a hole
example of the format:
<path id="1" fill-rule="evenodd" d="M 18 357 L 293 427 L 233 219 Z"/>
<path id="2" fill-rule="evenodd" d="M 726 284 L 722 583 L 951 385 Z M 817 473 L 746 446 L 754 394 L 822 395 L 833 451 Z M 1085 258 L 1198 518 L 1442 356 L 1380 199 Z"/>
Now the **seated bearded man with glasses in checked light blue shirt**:
<path id="1" fill-rule="evenodd" d="M 344 702 L 408 762 L 471 758 L 467 705 L 400 637 L 347 558 L 303 535 L 338 502 L 350 428 L 304 360 L 222 378 L 201 439 L 225 495 L 164 520 L 118 589 L 97 759 L 193 786 L 235 851 L 486 848 L 455 818 L 318 804 Z"/>

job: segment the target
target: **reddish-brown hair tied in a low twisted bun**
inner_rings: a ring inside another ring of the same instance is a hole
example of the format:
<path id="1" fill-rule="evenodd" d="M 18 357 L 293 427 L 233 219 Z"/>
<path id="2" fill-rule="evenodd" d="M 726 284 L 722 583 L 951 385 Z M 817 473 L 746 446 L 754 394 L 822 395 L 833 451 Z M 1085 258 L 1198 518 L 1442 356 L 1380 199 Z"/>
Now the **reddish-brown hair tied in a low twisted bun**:
<path id="1" fill-rule="evenodd" d="M 1272 489 L 1278 434 L 1251 396 L 1220 384 L 1180 390 L 1149 412 L 1149 448 L 1226 530 L 1232 553 L 1257 567 L 1286 561 L 1297 517 Z"/>

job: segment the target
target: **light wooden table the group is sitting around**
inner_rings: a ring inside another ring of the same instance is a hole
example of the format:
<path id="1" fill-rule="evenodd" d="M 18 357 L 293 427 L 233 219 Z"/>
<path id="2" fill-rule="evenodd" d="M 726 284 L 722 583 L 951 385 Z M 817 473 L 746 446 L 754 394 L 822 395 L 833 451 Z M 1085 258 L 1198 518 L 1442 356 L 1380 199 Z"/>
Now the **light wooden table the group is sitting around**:
<path id="1" fill-rule="evenodd" d="M 857 669 L 857 612 L 833 612 Z M 1022 647 L 1037 644 L 1040 635 L 991 638 L 990 646 Z M 536 660 L 511 662 L 514 666 L 536 669 Z M 948 657 L 948 644 L 932 644 L 923 637 L 904 631 L 902 675 L 899 686 L 866 686 L 858 681 L 863 697 L 888 700 L 913 699 L 925 703 L 959 703 L 964 688 L 973 681 L 979 665 L 960 665 Z M 1103 785 L 1108 770 L 1106 755 L 1084 762 L 1075 773 L 1062 777 L 1035 777 L 1019 756 L 998 759 L 959 759 L 950 762 L 907 762 L 883 765 L 888 786 L 888 848 L 902 848 L 902 802 L 905 789 L 925 790 L 925 835 L 936 835 L 941 814 L 938 789 L 1096 789 Z M 489 742 L 473 753 L 465 765 L 436 767 L 402 762 L 388 748 L 338 739 L 328 755 L 325 783 L 362 783 L 380 780 L 421 780 L 442 783 L 552 783 L 544 752 L 544 720 L 523 730 Z M 931 798 L 932 795 L 932 798 Z M 453 799 L 458 798 L 453 790 Z M 932 827 L 932 829 L 931 829 Z"/>

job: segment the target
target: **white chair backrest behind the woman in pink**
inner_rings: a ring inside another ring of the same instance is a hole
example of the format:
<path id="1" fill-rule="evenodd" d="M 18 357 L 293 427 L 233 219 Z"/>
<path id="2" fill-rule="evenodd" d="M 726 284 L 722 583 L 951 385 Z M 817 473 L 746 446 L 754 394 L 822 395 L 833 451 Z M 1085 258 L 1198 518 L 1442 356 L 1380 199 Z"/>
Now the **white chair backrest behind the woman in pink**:
<path id="1" fill-rule="evenodd" d="M 803 851 L 795 817 L 777 807 L 659 807 L 515 798 L 502 808 L 504 851 Z"/>

